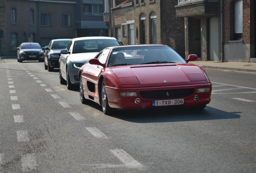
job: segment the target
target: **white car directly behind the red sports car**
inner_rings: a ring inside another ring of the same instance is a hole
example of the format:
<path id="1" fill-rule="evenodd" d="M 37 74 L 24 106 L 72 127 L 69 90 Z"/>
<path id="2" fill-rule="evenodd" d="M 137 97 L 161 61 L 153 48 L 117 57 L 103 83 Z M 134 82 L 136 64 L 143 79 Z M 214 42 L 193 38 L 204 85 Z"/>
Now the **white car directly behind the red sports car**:
<path id="1" fill-rule="evenodd" d="M 68 89 L 79 85 L 78 70 L 101 50 L 109 46 L 120 46 L 116 38 L 111 37 L 81 37 L 73 38 L 66 49 L 60 53 L 60 83 Z"/>

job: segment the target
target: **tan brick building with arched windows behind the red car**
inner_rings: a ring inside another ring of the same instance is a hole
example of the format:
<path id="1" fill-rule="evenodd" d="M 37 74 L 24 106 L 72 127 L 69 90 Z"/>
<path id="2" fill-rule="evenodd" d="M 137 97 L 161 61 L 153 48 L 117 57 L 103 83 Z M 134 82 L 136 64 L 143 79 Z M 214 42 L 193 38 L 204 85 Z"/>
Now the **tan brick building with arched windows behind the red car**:
<path id="1" fill-rule="evenodd" d="M 109 35 L 124 44 L 167 44 L 185 58 L 184 18 L 173 0 L 105 0 Z"/>

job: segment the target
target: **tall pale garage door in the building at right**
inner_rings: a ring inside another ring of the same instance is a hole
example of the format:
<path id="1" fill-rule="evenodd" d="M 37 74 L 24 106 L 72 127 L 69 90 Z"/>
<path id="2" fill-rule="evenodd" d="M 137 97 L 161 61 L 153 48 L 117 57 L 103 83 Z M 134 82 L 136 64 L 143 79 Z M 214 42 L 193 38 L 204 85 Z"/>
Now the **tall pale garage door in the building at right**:
<path id="1" fill-rule="evenodd" d="M 219 60 L 218 18 L 210 18 L 209 27 L 209 56 L 210 60 Z"/>

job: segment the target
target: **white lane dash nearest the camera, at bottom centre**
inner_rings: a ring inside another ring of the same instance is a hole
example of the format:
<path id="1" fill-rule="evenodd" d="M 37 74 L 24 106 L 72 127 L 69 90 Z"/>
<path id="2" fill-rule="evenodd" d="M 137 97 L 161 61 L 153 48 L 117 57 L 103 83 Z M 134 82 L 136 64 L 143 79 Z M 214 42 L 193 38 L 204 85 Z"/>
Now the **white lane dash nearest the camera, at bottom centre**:
<path id="1" fill-rule="evenodd" d="M 130 168 L 141 168 L 143 167 L 138 161 L 136 161 L 132 156 L 126 153 L 123 149 L 113 149 L 110 150 L 120 161 Z"/>

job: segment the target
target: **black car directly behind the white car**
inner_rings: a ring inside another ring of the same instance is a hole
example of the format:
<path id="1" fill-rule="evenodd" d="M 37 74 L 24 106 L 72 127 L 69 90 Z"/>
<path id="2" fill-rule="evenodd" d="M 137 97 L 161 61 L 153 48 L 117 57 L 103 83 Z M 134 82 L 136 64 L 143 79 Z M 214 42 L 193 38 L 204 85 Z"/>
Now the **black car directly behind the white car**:
<path id="1" fill-rule="evenodd" d="M 51 40 L 49 45 L 45 47 L 44 52 L 44 69 L 52 71 L 59 68 L 60 50 L 65 49 L 71 39 Z"/>

